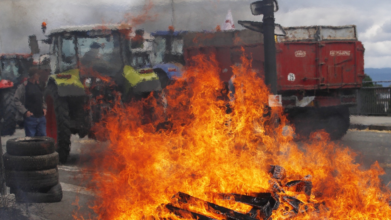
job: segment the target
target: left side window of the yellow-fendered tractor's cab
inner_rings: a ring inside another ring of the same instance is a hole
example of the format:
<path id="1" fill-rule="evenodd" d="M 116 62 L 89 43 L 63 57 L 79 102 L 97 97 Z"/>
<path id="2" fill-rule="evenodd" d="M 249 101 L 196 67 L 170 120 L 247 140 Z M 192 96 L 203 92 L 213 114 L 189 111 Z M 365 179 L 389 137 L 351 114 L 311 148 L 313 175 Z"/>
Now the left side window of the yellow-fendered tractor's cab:
<path id="1" fill-rule="evenodd" d="M 61 42 L 61 72 L 76 68 L 76 51 L 74 38 L 62 39 Z"/>

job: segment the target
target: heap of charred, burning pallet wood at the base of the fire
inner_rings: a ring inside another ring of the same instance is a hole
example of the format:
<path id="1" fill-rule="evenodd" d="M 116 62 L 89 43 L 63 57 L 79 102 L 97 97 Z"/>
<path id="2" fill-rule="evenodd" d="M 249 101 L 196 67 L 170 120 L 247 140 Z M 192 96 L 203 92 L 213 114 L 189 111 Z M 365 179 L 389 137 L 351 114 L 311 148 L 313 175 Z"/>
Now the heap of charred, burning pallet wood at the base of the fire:
<path id="1" fill-rule="evenodd" d="M 179 218 L 194 218 L 199 220 L 268 220 L 272 219 L 271 215 L 273 214 L 273 210 L 277 210 L 281 202 L 291 206 L 291 209 L 286 210 L 284 213 L 287 219 L 299 213 L 307 212 L 308 206 L 299 199 L 286 195 L 284 187 L 289 189 L 289 191 L 304 193 L 309 197 L 312 191 L 312 182 L 310 181 L 312 177 L 307 175 L 301 180 L 290 181 L 283 186 L 281 181 L 286 177 L 286 170 L 283 167 L 271 165 L 269 173 L 271 173 L 271 179 L 269 180 L 271 192 L 246 193 L 245 195 L 238 193 L 218 193 L 215 195 L 220 200 L 231 200 L 251 206 L 251 210 L 245 214 L 183 192 L 176 193 L 172 197 L 172 203 L 163 205 L 163 208 Z M 318 213 L 321 210 L 328 210 L 324 203 L 313 204 L 313 206 Z M 204 210 L 206 213 L 201 213 L 201 211 L 197 210 Z"/>

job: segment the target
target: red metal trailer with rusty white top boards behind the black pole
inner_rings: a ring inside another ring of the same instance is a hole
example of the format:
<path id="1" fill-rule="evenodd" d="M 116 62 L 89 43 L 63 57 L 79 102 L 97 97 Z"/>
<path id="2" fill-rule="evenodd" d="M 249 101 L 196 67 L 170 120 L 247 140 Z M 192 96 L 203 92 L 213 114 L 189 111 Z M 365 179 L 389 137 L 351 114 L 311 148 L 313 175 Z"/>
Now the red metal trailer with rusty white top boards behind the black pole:
<path id="1" fill-rule="evenodd" d="M 332 139 L 349 128 L 348 107 L 356 105 L 357 89 L 364 78 L 364 47 L 357 40 L 355 25 L 285 28 L 287 36 L 276 38 L 277 87 L 282 105 L 296 127 L 308 137 L 325 129 Z M 248 29 L 224 32 L 186 32 L 183 52 L 186 65 L 191 57 L 214 53 L 222 81 L 232 76 L 240 63 L 242 47 L 253 59 L 252 66 L 264 76 L 263 35 Z"/>

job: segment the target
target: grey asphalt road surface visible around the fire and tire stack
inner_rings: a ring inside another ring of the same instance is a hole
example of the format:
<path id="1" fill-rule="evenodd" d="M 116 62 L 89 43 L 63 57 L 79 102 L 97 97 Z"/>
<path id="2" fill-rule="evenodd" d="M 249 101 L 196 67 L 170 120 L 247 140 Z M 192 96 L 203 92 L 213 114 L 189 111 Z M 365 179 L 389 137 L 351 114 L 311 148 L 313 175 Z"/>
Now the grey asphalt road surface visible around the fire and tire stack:
<path id="1" fill-rule="evenodd" d="M 14 137 L 24 137 L 24 131 L 17 130 L 15 135 L 11 137 L 2 137 L 3 150 L 5 150 L 6 141 Z M 88 200 L 93 199 L 93 194 L 85 188 L 86 175 L 80 169 L 91 160 L 86 150 L 91 147 L 104 148 L 105 143 L 87 138 L 80 139 L 75 135 L 72 135 L 71 141 L 72 150 L 68 163 L 58 166 L 59 179 L 63 188 L 63 200 L 58 203 L 29 207 L 31 219 L 73 220 L 72 215 L 75 211 L 91 213 L 91 209 L 88 208 Z M 357 151 L 359 156 L 356 158 L 356 162 L 365 168 L 369 168 L 377 160 L 386 171 L 386 175 L 382 176 L 384 183 L 387 184 L 391 181 L 391 132 L 350 130 L 339 142 Z M 75 204 L 77 199 L 79 199 L 80 209 Z M 20 207 L 23 210 L 26 209 L 25 206 Z M 84 214 L 83 216 L 88 215 Z"/>

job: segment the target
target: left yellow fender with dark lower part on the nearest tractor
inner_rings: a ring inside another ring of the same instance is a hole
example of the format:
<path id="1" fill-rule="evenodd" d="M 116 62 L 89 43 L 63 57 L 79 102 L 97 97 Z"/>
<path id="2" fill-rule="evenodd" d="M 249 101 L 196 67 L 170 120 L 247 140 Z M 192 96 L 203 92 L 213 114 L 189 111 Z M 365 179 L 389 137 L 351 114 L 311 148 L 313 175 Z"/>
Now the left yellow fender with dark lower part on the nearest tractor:
<path id="1" fill-rule="evenodd" d="M 83 83 L 80 81 L 79 69 L 72 69 L 49 76 L 48 82 L 54 81 L 59 96 L 85 96 Z"/>

